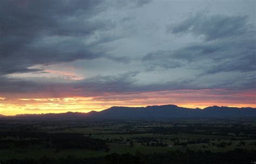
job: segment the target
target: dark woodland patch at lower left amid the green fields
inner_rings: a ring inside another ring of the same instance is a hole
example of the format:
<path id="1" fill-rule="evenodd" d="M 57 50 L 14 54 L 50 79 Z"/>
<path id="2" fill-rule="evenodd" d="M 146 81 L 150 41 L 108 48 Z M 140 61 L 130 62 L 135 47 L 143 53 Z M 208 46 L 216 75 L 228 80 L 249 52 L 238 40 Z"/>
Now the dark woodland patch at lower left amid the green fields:
<path id="1" fill-rule="evenodd" d="M 32 145 L 43 145 L 44 147 L 53 147 L 58 150 L 64 148 L 83 148 L 109 151 L 109 147 L 104 140 L 86 137 L 81 133 L 10 131 L 3 132 L 0 136 L 2 136 L 2 139 L 0 140 L 0 148 L 23 148 Z"/>

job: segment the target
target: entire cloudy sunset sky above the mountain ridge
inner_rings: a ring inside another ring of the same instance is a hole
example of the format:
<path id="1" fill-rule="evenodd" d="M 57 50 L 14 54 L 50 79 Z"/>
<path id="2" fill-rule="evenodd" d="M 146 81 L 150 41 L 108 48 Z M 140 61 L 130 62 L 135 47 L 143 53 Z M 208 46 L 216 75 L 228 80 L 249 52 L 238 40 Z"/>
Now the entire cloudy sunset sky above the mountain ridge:
<path id="1" fill-rule="evenodd" d="M 0 1 L 0 114 L 256 107 L 255 1 Z"/>

